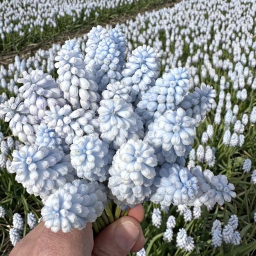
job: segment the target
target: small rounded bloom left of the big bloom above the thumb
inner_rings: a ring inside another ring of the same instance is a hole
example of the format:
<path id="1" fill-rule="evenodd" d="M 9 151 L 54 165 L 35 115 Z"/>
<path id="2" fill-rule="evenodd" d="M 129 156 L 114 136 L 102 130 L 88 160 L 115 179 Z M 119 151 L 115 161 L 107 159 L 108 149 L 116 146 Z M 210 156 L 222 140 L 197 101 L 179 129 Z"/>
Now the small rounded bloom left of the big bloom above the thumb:
<path id="1" fill-rule="evenodd" d="M 90 181 L 103 182 L 108 175 L 108 144 L 98 137 L 75 137 L 70 145 L 71 164 L 76 175 Z"/>

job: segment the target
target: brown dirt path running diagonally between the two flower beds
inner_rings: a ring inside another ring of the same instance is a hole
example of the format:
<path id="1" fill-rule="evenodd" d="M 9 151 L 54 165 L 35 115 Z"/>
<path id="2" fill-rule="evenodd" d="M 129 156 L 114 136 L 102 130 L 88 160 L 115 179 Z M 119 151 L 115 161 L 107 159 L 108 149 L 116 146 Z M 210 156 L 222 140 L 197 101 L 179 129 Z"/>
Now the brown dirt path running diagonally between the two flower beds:
<path id="1" fill-rule="evenodd" d="M 180 0 L 168 0 L 163 1 L 162 4 L 154 4 L 152 6 L 150 6 L 150 8 L 145 8 L 142 9 L 140 13 L 144 13 L 146 11 L 152 11 L 152 10 L 158 10 L 160 8 L 164 8 L 164 7 L 171 7 L 173 6 L 176 2 L 179 2 Z M 136 17 L 138 13 L 134 13 L 134 14 L 121 14 L 118 15 L 118 17 L 114 17 L 108 20 L 105 20 L 104 22 L 99 22 L 97 24 L 94 25 L 106 25 L 106 24 L 110 24 L 110 25 L 115 25 L 116 23 L 123 23 L 125 22 L 125 20 L 127 19 L 133 19 Z M 14 57 L 18 54 L 20 56 L 20 58 L 22 59 L 23 57 L 28 57 L 33 55 L 36 50 L 38 50 L 39 48 L 42 49 L 48 49 L 49 47 L 51 47 L 51 45 L 53 43 L 64 43 L 64 41 L 67 38 L 73 38 L 73 37 L 82 37 L 83 34 L 89 32 L 89 30 L 91 29 L 93 25 L 88 25 L 88 26 L 84 26 L 83 28 L 79 28 L 75 31 L 69 31 L 69 32 L 64 32 L 61 33 L 57 36 L 55 36 L 53 39 L 51 40 L 42 40 L 38 43 L 33 43 L 31 45 L 27 45 L 26 47 L 24 47 L 22 50 L 20 51 L 12 51 L 12 52 L 8 52 L 7 54 L 4 55 L 0 55 L 0 64 L 4 65 L 5 67 L 9 64 L 12 63 L 14 61 Z"/>

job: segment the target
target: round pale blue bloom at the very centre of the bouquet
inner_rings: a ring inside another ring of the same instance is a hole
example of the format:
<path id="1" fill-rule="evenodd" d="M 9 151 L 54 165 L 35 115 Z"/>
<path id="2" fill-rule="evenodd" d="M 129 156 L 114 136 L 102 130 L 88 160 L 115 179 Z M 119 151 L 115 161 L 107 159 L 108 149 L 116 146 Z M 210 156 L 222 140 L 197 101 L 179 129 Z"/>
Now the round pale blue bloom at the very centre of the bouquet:
<path id="1" fill-rule="evenodd" d="M 102 99 L 98 108 L 100 137 L 110 148 L 118 149 L 129 138 L 138 139 L 144 135 L 140 117 L 133 112 L 132 105 L 115 96 Z"/>

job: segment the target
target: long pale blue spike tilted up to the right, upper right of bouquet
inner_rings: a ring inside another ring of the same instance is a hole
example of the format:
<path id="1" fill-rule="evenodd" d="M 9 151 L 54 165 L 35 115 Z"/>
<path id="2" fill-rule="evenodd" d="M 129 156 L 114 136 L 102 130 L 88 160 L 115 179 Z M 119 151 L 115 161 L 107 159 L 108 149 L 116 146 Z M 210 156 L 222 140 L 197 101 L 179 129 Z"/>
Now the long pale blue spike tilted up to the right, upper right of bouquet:
<path id="1" fill-rule="evenodd" d="M 146 126 L 167 109 L 175 110 L 188 90 L 189 78 L 185 67 L 175 67 L 156 79 L 155 85 L 142 95 L 135 110 Z"/>

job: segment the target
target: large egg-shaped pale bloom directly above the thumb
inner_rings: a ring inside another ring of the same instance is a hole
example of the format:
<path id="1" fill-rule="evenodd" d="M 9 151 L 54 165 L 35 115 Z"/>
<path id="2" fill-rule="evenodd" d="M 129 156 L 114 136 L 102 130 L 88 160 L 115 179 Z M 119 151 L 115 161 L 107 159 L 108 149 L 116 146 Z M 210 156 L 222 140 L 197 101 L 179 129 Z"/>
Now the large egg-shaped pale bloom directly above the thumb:
<path id="1" fill-rule="evenodd" d="M 142 140 L 129 139 L 113 157 L 108 187 L 119 201 L 126 204 L 140 203 L 151 193 L 156 165 L 151 146 Z"/>

